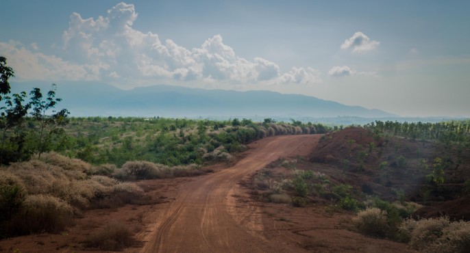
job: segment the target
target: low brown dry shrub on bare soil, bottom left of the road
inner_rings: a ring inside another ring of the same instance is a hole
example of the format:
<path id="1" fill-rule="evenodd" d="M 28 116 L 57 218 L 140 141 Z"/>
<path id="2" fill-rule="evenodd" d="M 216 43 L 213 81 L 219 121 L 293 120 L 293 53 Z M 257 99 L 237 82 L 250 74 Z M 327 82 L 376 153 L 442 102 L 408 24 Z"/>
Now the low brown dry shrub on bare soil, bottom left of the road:
<path id="1" fill-rule="evenodd" d="M 112 222 L 103 230 L 90 235 L 85 241 L 86 247 L 100 250 L 122 250 L 134 245 L 132 232 L 121 222 Z"/>

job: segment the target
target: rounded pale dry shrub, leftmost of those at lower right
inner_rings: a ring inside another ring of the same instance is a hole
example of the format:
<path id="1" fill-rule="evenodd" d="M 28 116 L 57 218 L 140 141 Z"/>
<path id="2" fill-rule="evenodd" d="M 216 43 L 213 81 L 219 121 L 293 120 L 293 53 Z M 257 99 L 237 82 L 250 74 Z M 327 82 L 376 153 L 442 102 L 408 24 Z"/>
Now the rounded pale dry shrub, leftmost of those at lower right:
<path id="1" fill-rule="evenodd" d="M 355 223 L 364 235 L 384 237 L 388 233 L 387 213 L 375 207 L 360 211 Z"/>

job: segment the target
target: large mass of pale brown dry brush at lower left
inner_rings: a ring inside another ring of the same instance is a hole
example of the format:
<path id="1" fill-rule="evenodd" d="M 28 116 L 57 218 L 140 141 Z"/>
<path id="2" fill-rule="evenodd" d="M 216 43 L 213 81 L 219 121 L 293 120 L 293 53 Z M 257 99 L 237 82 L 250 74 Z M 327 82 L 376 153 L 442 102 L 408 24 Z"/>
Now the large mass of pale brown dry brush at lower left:
<path id="1" fill-rule="evenodd" d="M 84 209 L 151 202 L 138 185 L 108 176 L 89 176 L 93 170 L 84 161 L 56 153 L 0 168 L 0 187 L 18 185 L 28 195 L 19 211 L 0 224 L 0 230 L 7 235 L 59 232 Z"/>

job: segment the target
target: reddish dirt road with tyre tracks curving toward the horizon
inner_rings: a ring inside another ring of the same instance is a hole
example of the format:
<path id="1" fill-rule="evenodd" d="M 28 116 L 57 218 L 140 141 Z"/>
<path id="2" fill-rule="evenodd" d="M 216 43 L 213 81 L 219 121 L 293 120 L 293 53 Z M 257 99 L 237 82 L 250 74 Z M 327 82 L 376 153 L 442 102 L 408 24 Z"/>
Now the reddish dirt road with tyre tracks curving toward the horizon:
<path id="1" fill-rule="evenodd" d="M 143 252 L 283 252 L 282 245 L 262 237 L 259 208 L 237 206 L 236 197 L 243 194 L 238 183 L 279 157 L 308 155 L 319 137 L 262 139 L 231 168 L 186 183 L 164 215 L 156 217 Z"/>

